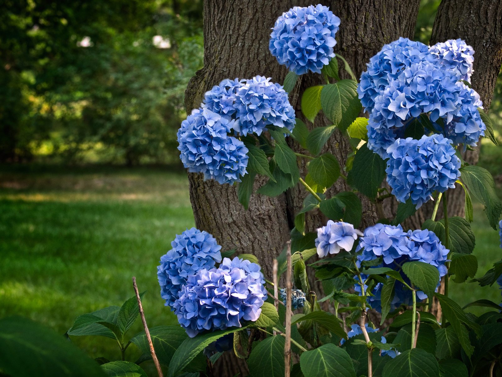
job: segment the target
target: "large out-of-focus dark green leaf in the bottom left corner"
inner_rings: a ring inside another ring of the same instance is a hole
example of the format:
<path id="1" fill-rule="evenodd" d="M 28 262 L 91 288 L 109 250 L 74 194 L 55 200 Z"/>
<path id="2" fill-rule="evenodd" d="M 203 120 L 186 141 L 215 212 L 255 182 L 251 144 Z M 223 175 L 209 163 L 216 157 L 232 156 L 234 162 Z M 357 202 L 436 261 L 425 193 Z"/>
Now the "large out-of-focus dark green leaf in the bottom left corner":
<path id="1" fill-rule="evenodd" d="M 21 317 L 0 320 L 0 370 L 12 376 L 105 375 L 97 362 L 63 336 Z"/>

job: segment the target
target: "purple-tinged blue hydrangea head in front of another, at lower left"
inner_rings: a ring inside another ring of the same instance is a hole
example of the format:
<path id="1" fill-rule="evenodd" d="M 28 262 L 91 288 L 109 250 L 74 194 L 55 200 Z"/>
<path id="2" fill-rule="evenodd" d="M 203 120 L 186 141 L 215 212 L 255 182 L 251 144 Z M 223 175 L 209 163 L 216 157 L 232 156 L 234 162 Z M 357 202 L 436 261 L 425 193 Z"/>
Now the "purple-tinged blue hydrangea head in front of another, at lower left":
<path id="1" fill-rule="evenodd" d="M 173 306 L 178 322 L 194 337 L 205 330 L 241 327 L 241 320 L 256 321 L 266 298 L 260 266 L 235 257 L 189 276 Z"/>

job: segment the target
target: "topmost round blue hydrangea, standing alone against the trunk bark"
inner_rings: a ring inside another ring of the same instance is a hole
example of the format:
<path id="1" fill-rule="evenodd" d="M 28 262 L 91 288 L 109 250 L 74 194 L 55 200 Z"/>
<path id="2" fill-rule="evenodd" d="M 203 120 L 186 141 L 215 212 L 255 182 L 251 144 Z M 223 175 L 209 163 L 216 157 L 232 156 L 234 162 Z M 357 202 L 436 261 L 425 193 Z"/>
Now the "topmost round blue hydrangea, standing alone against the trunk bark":
<path id="1" fill-rule="evenodd" d="M 328 7 L 293 7 L 277 19 L 270 35 L 270 52 L 296 74 L 321 73 L 335 56 L 339 26 L 340 19 Z"/>

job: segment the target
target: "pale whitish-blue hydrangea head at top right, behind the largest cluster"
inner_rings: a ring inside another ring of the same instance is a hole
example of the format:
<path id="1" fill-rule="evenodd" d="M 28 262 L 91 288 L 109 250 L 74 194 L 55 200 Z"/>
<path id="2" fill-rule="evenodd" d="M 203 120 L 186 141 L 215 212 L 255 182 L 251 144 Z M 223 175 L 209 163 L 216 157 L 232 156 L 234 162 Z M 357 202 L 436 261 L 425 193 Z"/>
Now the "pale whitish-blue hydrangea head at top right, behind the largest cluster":
<path id="1" fill-rule="evenodd" d="M 429 49 L 430 53 L 437 56 L 439 62 L 447 69 L 452 70 L 458 79 L 470 82 L 474 70 L 474 49 L 462 39 L 449 39 L 446 42 L 436 43 Z"/>

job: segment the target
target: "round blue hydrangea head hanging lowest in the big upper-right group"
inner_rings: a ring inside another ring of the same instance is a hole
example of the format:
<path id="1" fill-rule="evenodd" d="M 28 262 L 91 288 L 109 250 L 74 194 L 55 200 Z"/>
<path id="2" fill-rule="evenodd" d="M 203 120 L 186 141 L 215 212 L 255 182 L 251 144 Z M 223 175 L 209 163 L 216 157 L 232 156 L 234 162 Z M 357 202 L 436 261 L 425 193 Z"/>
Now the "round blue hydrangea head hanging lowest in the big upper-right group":
<path id="1" fill-rule="evenodd" d="M 460 176 L 460 159 L 443 135 L 398 139 L 387 152 L 387 182 L 392 194 L 402 203 L 411 198 L 417 209 L 432 198 L 433 192 L 444 193 L 455 187 Z"/>

